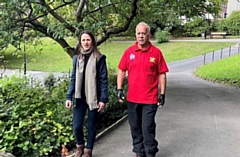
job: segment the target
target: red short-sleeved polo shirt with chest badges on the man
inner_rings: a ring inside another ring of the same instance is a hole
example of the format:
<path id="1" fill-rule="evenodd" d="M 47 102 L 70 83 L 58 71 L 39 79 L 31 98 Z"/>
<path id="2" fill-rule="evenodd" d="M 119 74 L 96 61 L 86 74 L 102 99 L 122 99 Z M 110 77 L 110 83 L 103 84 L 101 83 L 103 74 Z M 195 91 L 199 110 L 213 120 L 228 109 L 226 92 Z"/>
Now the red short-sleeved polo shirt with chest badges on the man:
<path id="1" fill-rule="evenodd" d="M 159 74 L 168 72 L 162 52 L 157 47 L 150 43 L 142 51 L 136 42 L 124 52 L 118 68 L 128 72 L 128 101 L 157 103 Z"/>

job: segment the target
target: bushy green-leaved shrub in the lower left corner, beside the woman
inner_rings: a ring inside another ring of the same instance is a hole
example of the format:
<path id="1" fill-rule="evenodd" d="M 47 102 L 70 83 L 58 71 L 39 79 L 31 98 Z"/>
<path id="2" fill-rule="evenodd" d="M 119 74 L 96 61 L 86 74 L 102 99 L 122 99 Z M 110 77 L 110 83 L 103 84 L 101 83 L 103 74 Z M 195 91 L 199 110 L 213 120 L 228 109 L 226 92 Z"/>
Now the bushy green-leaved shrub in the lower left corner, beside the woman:
<path id="1" fill-rule="evenodd" d="M 0 80 L 0 150 L 16 156 L 47 156 L 73 140 L 71 111 L 25 78 Z M 61 116 L 61 118 L 60 118 Z"/>

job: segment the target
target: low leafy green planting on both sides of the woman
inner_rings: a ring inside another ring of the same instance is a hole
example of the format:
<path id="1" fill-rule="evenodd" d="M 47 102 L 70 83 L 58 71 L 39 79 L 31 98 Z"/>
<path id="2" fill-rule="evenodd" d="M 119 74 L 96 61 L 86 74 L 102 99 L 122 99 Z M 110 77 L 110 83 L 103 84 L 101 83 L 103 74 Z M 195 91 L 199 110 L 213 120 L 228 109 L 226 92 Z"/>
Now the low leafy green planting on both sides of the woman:
<path id="1" fill-rule="evenodd" d="M 0 151 L 60 156 L 61 144 L 74 145 L 72 110 L 64 105 L 69 78 L 58 78 L 55 86 L 49 79 L 47 88 L 25 77 L 0 80 Z M 109 100 L 99 116 L 99 131 L 126 115 L 126 104 L 116 103 L 115 75 L 109 76 Z"/>

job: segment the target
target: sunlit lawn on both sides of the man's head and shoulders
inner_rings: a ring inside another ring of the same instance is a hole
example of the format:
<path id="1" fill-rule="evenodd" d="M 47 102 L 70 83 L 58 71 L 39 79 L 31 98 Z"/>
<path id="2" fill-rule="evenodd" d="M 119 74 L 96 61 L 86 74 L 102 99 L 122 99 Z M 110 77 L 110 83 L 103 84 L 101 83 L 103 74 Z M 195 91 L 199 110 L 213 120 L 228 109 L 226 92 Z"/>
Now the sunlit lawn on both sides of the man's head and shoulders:
<path id="1" fill-rule="evenodd" d="M 133 42 L 106 43 L 100 46 L 100 51 L 107 55 L 108 64 L 112 68 L 117 69 L 118 62 L 124 50 L 131 44 L 133 44 Z M 161 49 L 166 61 L 170 63 L 177 60 L 192 58 L 203 53 L 212 52 L 213 50 L 220 50 L 221 48 L 226 48 L 230 45 L 235 45 L 236 43 L 168 42 L 163 44 L 153 44 Z"/>

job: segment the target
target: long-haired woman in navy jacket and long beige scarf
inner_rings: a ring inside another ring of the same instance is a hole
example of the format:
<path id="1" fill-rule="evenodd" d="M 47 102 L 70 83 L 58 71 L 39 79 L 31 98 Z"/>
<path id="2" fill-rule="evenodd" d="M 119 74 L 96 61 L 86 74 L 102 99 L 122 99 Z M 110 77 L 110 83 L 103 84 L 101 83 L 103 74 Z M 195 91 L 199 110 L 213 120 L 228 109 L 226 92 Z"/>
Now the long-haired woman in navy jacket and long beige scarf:
<path id="1" fill-rule="evenodd" d="M 71 82 L 66 107 L 73 108 L 73 132 L 76 139 L 75 157 L 91 157 L 96 138 L 98 114 L 108 102 L 106 56 L 100 54 L 94 35 L 83 31 L 79 35 L 77 55 L 73 57 Z M 74 99 L 73 98 L 74 95 Z M 88 111 L 86 146 L 83 133 Z"/>

